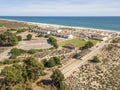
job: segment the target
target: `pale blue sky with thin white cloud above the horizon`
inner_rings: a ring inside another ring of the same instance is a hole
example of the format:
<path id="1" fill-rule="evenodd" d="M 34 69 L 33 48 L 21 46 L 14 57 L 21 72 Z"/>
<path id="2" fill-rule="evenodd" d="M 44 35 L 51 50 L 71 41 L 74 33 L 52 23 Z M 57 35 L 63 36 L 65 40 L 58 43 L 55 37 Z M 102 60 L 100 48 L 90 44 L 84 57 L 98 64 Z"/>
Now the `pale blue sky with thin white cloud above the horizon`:
<path id="1" fill-rule="evenodd" d="M 0 0 L 0 16 L 120 16 L 120 0 Z"/>

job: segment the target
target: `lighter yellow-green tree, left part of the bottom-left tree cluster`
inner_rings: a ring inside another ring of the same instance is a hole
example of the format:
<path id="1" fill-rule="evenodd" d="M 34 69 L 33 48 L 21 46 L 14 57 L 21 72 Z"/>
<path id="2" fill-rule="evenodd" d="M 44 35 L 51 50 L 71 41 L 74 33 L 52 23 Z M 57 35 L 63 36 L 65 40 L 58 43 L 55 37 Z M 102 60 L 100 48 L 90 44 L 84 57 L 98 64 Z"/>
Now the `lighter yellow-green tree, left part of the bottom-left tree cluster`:
<path id="1" fill-rule="evenodd" d="M 23 83 L 22 69 L 18 64 L 5 67 L 1 74 L 5 77 L 5 85 L 9 88 L 18 83 Z"/>

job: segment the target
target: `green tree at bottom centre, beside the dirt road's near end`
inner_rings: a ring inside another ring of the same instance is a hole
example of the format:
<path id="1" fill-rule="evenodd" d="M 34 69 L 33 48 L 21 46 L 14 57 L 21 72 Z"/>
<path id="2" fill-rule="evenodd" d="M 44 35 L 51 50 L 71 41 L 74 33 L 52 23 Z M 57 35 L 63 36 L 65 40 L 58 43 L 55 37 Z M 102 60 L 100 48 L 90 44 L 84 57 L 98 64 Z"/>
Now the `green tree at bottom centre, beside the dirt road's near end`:
<path id="1" fill-rule="evenodd" d="M 53 84 L 58 88 L 58 90 L 66 90 L 66 83 L 64 82 L 64 75 L 59 69 L 53 71 L 51 75 Z"/>

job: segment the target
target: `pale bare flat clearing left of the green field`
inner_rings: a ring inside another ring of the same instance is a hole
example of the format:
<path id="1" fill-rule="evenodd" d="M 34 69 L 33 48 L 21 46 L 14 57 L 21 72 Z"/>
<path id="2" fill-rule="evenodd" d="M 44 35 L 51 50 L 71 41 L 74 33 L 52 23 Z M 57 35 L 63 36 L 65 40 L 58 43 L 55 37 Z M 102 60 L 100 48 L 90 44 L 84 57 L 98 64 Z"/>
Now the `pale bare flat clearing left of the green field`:
<path id="1" fill-rule="evenodd" d="M 41 40 L 31 40 L 31 41 L 21 41 L 19 42 L 17 48 L 30 50 L 30 49 L 47 49 L 52 46 L 47 42 L 46 39 Z"/>

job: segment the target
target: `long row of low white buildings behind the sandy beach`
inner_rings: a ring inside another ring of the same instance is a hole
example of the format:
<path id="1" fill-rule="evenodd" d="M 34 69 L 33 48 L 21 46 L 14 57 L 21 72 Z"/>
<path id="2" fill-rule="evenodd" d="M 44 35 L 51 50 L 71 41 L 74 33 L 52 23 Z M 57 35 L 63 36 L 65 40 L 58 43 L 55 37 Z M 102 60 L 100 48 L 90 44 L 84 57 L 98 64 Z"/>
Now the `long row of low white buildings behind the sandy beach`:
<path id="1" fill-rule="evenodd" d="M 47 29 L 34 29 L 32 32 L 40 33 L 40 34 L 51 34 L 56 37 L 60 38 L 67 38 L 67 39 L 72 39 L 74 37 L 81 37 L 84 39 L 96 39 L 96 40 L 102 40 L 105 41 L 107 40 L 107 36 L 102 35 L 102 34 L 97 34 L 97 33 L 87 33 L 87 32 L 71 32 L 69 30 L 47 30 Z"/>

